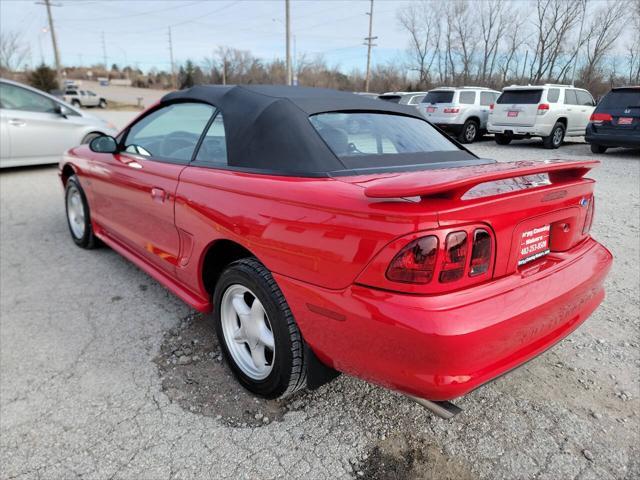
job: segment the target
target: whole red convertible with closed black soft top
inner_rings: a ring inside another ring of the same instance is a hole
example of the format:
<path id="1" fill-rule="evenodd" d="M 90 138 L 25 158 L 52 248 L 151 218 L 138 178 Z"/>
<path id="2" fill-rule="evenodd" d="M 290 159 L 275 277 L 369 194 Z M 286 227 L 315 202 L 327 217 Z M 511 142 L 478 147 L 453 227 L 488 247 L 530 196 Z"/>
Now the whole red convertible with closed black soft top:
<path id="1" fill-rule="evenodd" d="M 478 158 L 345 92 L 197 86 L 70 150 L 60 176 L 74 242 L 213 311 L 250 391 L 345 372 L 446 417 L 602 301 L 596 164 Z"/>

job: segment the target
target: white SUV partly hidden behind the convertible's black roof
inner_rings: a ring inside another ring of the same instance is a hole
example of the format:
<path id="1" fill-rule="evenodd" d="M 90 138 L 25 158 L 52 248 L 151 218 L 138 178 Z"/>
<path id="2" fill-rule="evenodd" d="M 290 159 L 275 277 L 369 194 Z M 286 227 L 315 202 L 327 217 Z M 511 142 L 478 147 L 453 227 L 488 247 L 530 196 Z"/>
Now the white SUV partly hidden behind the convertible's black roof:
<path id="1" fill-rule="evenodd" d="M 482 87 L 439 87 L 427 92 L 418 110 L 461 143 L 472 143 L 486 131 L 489 106 L 499 95 Z"/>

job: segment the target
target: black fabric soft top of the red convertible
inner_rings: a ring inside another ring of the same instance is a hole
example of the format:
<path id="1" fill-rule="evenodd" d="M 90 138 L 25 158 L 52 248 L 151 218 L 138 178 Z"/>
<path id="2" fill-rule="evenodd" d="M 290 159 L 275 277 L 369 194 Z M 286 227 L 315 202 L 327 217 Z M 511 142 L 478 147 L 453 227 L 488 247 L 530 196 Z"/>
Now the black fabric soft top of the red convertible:
<path id="1" fill-rule="evenodd" d="M 223 114 L 231 168 L 317 176 L 352 169 L 331 151 L 309 116 L 379 112 L 424 120 L 413 107 L 325 88 L 281 85 L 198 85 L 165 95 L 160 104 L 197 101 Z M 453 152 L 448 152 L 453 153 Z M 465 158 L 474 158 L 461 150 Z"/>

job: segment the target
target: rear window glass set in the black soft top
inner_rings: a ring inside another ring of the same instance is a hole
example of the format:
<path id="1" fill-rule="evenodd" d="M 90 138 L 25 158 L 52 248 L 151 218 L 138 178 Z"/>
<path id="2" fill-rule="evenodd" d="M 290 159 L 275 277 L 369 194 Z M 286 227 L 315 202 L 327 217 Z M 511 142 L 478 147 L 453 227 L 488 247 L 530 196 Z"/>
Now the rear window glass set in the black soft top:
<path id="1" fill-rule="evenodd" d="M 435 152 L 463 153 L 428 122 L 387 113 L 320 113 L 309 117 L 325 143 L 348 168 L 429 163 Z"/>

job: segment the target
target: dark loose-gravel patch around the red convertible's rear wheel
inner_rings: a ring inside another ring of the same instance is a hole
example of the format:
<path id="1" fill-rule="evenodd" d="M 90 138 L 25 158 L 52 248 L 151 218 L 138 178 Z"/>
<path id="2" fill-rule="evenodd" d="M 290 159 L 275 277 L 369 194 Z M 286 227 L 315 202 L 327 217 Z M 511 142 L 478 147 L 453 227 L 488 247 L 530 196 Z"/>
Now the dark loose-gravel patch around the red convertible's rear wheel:
<path id="1" fill-rule="evenodd" d="M 242 388 L 224 364 L 211 319 L 202 314 L 187 316 L 165 333 L 155 363 L 172 402 L 233 427 L 278 421 L 300 402 L 264 400 Z"/>

